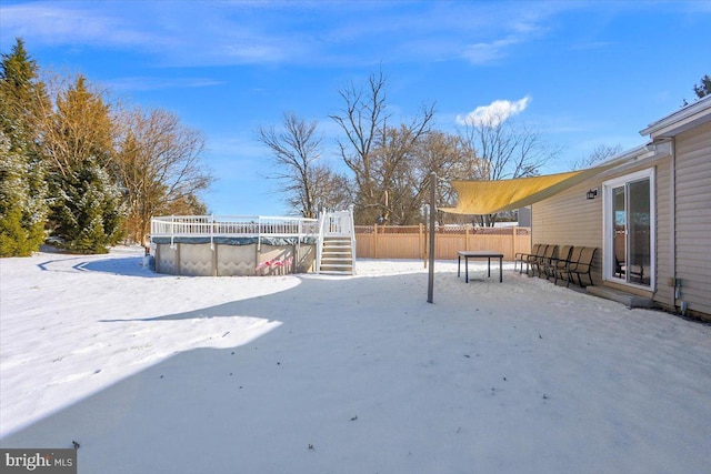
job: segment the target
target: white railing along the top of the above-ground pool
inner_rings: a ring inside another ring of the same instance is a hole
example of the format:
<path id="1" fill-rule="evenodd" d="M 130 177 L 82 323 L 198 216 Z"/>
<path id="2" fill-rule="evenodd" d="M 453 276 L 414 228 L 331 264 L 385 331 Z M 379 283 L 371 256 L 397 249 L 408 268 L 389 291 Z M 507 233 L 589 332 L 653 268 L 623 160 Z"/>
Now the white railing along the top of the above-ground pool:
<path id="1" fill-rule="evenodd" d="M 269 215 L 167 215 L 151 219 L 151 240 L 170 238 L 318 238 L 316 219 Z"/>

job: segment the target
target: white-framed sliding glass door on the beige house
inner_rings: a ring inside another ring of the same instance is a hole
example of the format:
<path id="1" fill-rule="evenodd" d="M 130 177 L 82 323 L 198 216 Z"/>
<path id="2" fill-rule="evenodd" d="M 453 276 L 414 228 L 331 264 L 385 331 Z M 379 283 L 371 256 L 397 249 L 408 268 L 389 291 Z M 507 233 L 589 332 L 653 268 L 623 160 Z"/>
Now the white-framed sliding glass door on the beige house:
<path id="1" fill-rule="evenodd" d="M 603 188 L 603 275 L 654 288 L 653 169 L 605 181 Z"/>

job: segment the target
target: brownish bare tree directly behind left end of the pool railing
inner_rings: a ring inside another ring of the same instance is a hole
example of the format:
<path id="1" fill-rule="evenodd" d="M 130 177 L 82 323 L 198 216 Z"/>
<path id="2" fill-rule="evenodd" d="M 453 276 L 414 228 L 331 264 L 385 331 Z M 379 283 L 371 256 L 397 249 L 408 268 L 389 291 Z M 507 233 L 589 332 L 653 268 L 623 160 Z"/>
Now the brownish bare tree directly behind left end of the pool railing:
<path id="1" fill-rule="evenodd" d="M 150 219 L 163 213 L 203 213 L 198 194 L 213 178 L 202 162 L 204 138 L 164 110 L 123 112 L 117 173 L 128 206 L 129 235 L 143 242 Z"/>

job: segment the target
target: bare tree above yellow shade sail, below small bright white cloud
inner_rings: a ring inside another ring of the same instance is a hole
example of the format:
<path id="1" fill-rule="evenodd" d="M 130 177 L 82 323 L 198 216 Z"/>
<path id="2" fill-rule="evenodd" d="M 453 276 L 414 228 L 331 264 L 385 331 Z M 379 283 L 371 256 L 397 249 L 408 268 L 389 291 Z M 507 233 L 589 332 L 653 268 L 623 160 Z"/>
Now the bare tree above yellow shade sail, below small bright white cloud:
<path id="1" fill-rule="evenodd" d="M 460 131 L 462 142 L 479 158 L 471 179 L 504 180 L 538 175 L 540 169 L 560 150 L 549 147 L 540 132 L 507 115 L 467 122 Z M 493 225 L 497 214 L 480 216 L 481 223 Z"/>

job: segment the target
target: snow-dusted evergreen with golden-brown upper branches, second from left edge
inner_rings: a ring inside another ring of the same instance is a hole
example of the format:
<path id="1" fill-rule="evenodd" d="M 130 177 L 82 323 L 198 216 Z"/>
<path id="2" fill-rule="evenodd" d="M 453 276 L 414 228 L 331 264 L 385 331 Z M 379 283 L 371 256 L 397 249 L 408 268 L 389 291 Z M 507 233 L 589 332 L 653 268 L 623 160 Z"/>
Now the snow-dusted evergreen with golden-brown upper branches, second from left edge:
<path id="1" fill-rule="evenodd" d="M 113 129 L 109 105 L 83 77 L 57 97 L 44 137 L 52 163 L 51 226 L 56 242 L 73 252 L 106 253 L 121 238 L 121 193 L 109 173 Z"/>

